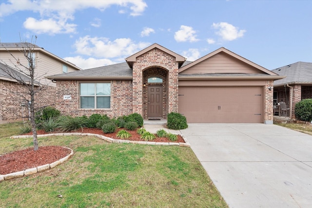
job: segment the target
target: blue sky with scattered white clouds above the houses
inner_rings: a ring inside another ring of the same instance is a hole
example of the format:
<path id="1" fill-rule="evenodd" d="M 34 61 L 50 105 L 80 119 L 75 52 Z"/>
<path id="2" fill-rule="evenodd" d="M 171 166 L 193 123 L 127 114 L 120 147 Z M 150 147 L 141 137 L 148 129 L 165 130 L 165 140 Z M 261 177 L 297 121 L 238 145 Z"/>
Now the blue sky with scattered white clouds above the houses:
<path id="1" fill-rule="evenodd" d="M 0 41 L 88 69 L 153 43 L 194 61 L 220 47 L 269 70 L 312 62 L 312 0 L 0 0 Z"/>

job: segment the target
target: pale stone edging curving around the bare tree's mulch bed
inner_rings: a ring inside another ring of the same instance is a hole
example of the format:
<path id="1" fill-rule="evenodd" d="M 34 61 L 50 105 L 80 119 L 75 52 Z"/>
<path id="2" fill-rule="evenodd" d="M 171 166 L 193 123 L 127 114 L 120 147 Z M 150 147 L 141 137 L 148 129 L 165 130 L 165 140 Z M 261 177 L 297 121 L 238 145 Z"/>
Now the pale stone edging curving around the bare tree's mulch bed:
<path id="1" fill-rule="evenodd" d="M 44 135 L 44 134 L 42 134 Z M 12 136 L 11 136 L 12 137 Z M 26 138 L 26 137 L 24 137 Z M 5 174 L 5 175 L 0 175 L 0 182 L 1 181 L 4 181 L 4 180 L 8 180 L 8 179 L 12 179 L 12 178 L 20 178 L 20 177 L 23 177 L 23 176 L 27 176 L 27 175 L 32 175 L 32 174 L 35 174 L 37 172 L 41 172 L 43 170 L 49 170 L 49 169 L 52 169 L 56 166 L 58 166 L 59 164 L 65 162 L 66 160 L 68 160 L 69 158 L 71 158 L 74 154 L 74 151 L 68 147 L 63 147 L 63 148 L 67 148 L 69 150 L 71 150 L 71 153 L 68 154 L 67 156 L 51 163 L 51 164 L 45 164 L 45 165 L 42 165 L 42 166 L 38 166 L 36 168 L 31 168 L 31 169 L 27 169 L 27 170 L 22 170 L 22 171 L 18 171 L 18 172 L 12 172 L 12 173 L 8 173 L 8 174 Z"/>

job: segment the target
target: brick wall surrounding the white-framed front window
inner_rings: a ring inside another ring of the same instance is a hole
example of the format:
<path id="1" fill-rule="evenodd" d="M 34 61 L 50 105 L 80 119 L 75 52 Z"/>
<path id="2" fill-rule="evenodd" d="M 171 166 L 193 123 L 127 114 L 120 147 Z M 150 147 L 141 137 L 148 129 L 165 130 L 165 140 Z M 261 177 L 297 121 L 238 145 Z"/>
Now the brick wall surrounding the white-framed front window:
<path id="1" fill-rule="evenodd" d="M 83 81 L 96 83 L 98 80 Z M 94 113 L 107 114 L 109 117 L 118 117 L 132 113 L 132 80 L 112 80 L 111 108 L 110 109 L 80 109 L 79 81 L 58 80 L 57 82 L 57 109 L 63 115 L 90 116 Z M 63 95 L 72 95 L 71 100 L 63 100 Z"/>

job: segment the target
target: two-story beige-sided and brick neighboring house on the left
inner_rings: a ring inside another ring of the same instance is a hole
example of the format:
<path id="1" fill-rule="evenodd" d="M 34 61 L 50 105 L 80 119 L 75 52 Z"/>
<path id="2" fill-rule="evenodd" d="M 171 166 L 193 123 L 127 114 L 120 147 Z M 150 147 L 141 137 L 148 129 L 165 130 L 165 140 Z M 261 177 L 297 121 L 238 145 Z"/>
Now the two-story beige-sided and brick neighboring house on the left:
<path id="1" fill-rule="evenodd" d="M 16 67 L 19 67 L 20 64 L 28 66 L 27 59 L 20 51 L 23 47 L 27 49 L 26 44 L 34 48 L 35 85 L 47 86 L 46 90 L 40 92 L 36 97 L 37 106 L 54 105 L 56 102 L 56 83 L 44 78 L 44 76 L 81 70 L 74 64 L 51 54 L 37 45 L 31 43 L 0 43 L 0 122 L 14 121 L 20 119 L 22 115 L 25 116 L 25 112 L 28 113 L 27 104 L 21 101 L 16 93 L 10 93 L 23 92 L 26 89 L 25 86 L 18 84 L 14 78 L 6 73 L 10 72 L 18 79 L 29 79 L 28 76 L 16 70 Z"/>

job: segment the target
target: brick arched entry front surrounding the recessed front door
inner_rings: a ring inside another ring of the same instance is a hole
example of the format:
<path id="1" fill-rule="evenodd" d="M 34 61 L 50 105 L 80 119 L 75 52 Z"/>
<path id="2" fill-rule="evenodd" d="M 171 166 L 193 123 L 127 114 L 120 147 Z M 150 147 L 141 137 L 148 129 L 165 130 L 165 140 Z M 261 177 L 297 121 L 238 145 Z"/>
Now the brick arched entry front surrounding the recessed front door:
<path id="1" fill-rule="evenodd" d="M 133 63 L 133 112 L 143 115 L 142 72 L 148 67 L 160 67 L 169 71 L 168 75 L 168 112 L 178 111 L 178 63 L 176 58 L 154 48 L 137 57 Z"/>

